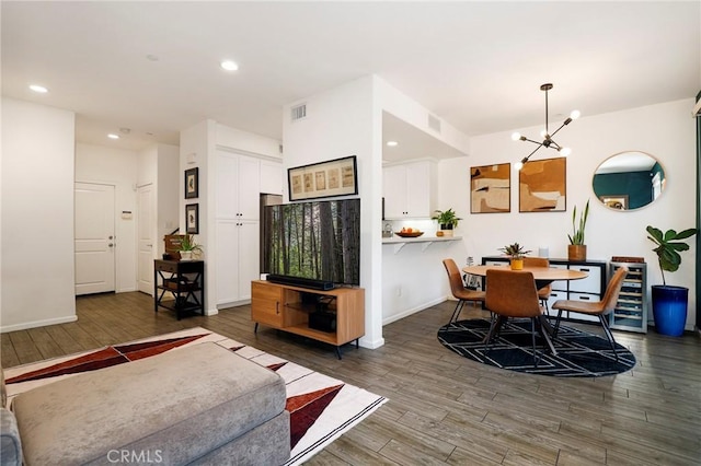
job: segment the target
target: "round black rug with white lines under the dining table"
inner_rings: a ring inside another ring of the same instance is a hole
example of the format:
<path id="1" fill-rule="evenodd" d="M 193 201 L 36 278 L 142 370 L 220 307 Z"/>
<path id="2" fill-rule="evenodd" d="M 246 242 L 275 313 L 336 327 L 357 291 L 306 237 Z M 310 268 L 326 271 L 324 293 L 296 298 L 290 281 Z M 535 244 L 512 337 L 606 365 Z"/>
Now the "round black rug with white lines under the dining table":
<path id="1" fill-rule="evenodd" d="M 541 358 L 535 368 L 530 318 L 509 318 L 486 350 L 484 338 L 489 331 L 490 321 L 459 321 L 440 327 L 438 341 L 473 361 L 539 375 L 600 377 L 620 374 L 635 365 L 635 357 L 625 347 L 616 343 L 617 361 L 605 337 L 561 325 L 558 338 L 553 339 L 558 356 L 545 349 L 545 341 L 540 335 L 536 337 L 536 351 Z"/>

